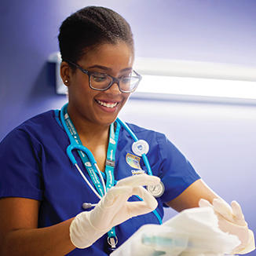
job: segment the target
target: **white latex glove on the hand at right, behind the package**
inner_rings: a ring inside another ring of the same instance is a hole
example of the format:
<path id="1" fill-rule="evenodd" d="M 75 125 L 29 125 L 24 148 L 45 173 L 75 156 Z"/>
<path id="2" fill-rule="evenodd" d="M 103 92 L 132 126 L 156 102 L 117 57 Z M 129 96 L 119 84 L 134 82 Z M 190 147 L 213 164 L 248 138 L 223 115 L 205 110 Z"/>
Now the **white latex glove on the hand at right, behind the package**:
<path id="1" fill-rule="evenodd" d="M 254 233 L 248 229 L 239 203 L 232 201 L 230 207 L 229 203 L 220 198 L 214 199 L 213 204 L 206 199 L 200 199 L 199 207 L 213 207 L 218 216 L 219 228 L 223 232 L 238 236 L 241 243 L 232 251 L 233 254 L 247 254 L 254 251 Z"/>

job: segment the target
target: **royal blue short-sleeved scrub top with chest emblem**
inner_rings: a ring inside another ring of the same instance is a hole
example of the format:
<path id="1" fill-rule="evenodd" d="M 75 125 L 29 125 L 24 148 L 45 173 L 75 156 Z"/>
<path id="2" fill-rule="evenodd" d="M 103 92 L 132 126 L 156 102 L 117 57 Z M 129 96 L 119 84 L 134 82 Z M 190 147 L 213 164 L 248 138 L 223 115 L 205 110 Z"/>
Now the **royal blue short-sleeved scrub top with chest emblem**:
<path id="1" fill-rule="evenodd" d="M 16 127 L 0 144 L 0 197 L 24 197 L 41 202 L 38 227 L 55 225 L 83 211 L 82 203 L 97 203 L 94 195 L 66 154 L 69 140 L 59 119 L 59 111 L 36 115 Z M 138 137 L 147 141 L 148 161 L 152 173 L 165 185 L 158 199 L 157 212 L 163 218 L 163 204 L 179 196 L 199 175 L 185 156 L 163 133 L 128 124 Z M 133 139 L 121 127 L 115 153 L 115 180 L 146 171 L 142 158 L 132 152 Z M 86 173 L 81 159 L 75 159 Z M 130 200 L 138 200 L 136 196 Z M 91 210 L 91 209 L 90 209 Z M 115 228 L 120 246 L 144 224 L 159 224 L 155 214 L 130 218 Z M 75 249 L 68 255 L 108 255 L 107 234 L 86 249 Z"/>

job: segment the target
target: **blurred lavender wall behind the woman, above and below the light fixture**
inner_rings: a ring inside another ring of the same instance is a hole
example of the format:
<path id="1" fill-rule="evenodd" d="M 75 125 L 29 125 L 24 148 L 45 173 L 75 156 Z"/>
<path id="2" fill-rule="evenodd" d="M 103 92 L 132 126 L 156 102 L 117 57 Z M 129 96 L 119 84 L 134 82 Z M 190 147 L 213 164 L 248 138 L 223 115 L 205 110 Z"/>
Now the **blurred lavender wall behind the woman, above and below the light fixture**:
<path id="1" fill-rule="evenodd" d="M 58 51 L 62 20 L 86 5 L 103 5 L 126 18 L 136 57 L 240 65 L 256 73 L 255 0 L 2 1 L 0 140 L 24 120 L 67 101 L 56 93 L 47 60 Z M 166 133 L 210 188 L 242 205 L 256 231 L 254 101 L 131 97 L 120 117 Z M 164 219 L 174 214 L 168 209 Z"/>

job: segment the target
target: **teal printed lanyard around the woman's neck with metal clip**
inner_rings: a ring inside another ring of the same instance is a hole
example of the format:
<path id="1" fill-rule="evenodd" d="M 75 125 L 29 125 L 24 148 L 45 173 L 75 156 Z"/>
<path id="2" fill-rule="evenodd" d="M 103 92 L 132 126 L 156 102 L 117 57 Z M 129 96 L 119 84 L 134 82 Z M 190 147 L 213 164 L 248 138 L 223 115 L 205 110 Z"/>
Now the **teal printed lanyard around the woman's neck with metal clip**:
<path id="1" fill-rule="evenodd" d="M 79 133 L 75 130 L 75 126 L 71 121 L 71 118 L 68 115 L 67 107 L 64 108 L 64 121 L 66 126 L 68 127 L 71 136 L 74 138 L 77 144 L 82 145 L 82 141 L 79 138 Z M 115 169 L 115 151 L 117 147 L 117 142 L 119 138 L 119 130 L 121 125 L 116 122 L 116 129 L 114 127 L 114 123 L 110 125 L 109 130 L 109 139 L 108 139 L 108 152 L 107 152 L 107 159 L 105 163 L 105 179 L 106 179 L 106 189 L 107 191 L 109 188 L 112 188 L 115 185 L 115 177 L 114 177 L 114 169 Z M 90 160 L 88 159 L 87 155 L 82 152 L 81 150 L 78 151 L 79 156 L 82 160 L 82 163 L 86 167 L 88 174 L 90 175 L 91 181 L 93 181 L 93 185 L 97 189 L 97 192 L 104 196 L 104 188 L 101 184 L 100 178 L 97 175 L 97 170 L 93 168 Z M 112 248 L 115 248 L 115 244 L 117 243 L 116 235 L 115 235 L 115 227 L 113 227 L 110 231 L 108 231 L 108 243 L 111 244 Z"/>

